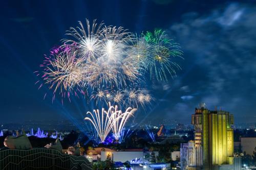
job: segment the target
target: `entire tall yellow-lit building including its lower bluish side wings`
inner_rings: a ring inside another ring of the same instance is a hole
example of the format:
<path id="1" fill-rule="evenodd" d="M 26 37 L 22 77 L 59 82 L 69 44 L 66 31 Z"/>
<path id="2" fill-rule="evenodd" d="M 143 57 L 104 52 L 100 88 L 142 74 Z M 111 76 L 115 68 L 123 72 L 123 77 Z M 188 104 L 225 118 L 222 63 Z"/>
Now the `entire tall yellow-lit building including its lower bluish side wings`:
<path id="1" fill-rule="evenodd" d="M 191 124 L 195 140 L 181 144 L 182 169 L 241 169 L 241 159 L 233 156 L 232 114 L 201 105 L 195 109 Z"/>

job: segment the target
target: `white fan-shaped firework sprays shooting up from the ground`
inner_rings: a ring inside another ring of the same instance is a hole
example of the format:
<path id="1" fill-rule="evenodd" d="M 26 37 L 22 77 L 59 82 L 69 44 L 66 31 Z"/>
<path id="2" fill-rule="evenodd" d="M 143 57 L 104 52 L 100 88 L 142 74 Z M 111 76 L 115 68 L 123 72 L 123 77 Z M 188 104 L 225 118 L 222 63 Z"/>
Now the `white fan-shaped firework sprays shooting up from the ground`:
<path id="1" fill-rule="evenodd" d="M 87 112 L 90 117 L 84 119 L 89 120 L 98 133 L 101 142 L 104 142 L 105 138 L 109 135 L 110 131 L 113 131 L 116 140 L 119 140 L 120 133 L 127 122 L 127 120 L 134 114 L 137 109 L 127 108 L 124 113 L 118 110 L 117 106 L 111 106 L 109 103 L 109 110 L 93 110 L 93 113 Z"/>

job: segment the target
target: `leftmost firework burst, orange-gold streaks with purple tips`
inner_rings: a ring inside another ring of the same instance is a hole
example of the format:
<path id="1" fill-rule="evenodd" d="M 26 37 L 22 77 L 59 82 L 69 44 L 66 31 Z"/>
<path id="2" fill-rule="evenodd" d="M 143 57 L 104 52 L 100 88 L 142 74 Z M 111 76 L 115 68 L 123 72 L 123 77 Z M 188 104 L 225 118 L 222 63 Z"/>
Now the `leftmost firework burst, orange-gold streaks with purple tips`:
<path id="1" fill-rule="evenodd" d="M 76 58 L 73 50 L 62 46 L 45 57 L 44 63 L 40 65 L 43 71 L 37 76 L 41 76 L 48 88 L 53 89 L 53 98 L 56 93 L 69 98 L 72 91 L 77 95 L 76 91 L 83 78 L 82 65 L 82 60 Z"/>

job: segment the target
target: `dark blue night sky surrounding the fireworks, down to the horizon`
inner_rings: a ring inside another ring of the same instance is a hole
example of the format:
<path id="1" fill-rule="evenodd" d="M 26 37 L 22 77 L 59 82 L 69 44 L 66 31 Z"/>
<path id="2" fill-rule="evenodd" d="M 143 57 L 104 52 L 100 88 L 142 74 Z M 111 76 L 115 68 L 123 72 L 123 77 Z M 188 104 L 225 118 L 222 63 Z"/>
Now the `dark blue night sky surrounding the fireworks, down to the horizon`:
<path id="1" fill-rule="evenodd" d="M 150 87 L 152 109 L 141 117 L 178 118 L 189 123 L 201 102 L 234 114 L 235 122 L 256 122 L 255 1 L 2 1 L 0 7 L 0 123 L 82 119 L 82 100 L 65 105 L 44 100 L 33 73 L 44 54 L 77 21 L 103 20 L 133 33 L 165 30 L 180 43 L 182 70 L 168 83 Z"/>

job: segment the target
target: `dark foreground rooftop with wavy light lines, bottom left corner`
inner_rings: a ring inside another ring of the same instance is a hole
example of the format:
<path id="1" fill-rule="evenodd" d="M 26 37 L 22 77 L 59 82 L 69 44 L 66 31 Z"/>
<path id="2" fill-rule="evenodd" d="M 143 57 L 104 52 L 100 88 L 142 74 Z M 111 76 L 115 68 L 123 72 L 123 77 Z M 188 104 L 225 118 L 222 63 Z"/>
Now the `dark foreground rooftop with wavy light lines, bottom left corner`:
<path id="1" fill-rule="evenodd" d="M 53 149 L 31 149 L 0 151 L 0 169 L 79 169 L 91 170 L 83 156 L 62 154 Z"/>

